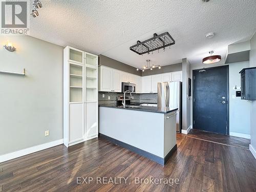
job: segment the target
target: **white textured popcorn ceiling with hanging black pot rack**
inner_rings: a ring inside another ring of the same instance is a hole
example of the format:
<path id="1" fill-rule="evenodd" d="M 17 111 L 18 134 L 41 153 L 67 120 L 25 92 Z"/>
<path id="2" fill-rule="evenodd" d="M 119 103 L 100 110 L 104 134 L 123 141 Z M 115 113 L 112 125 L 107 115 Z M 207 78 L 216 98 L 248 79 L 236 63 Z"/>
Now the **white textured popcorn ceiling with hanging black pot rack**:
<path id="1" fill-rule="evenodd" d="M 156 65 L 177 63 L 184 57 L 199 63 L 209 50 L 224 58 L 229 44 L 249 40 L 256 30 L 255 0 L 41 2 L 44 7 L 38 10 L 39 17 L 30 20 L 31 36 L 103 54 L 134 67 L 145 65 L 146 59 Z M 129 50 L 137 40 L 165 31 L 176 44 L 164 53 L 140 56 Z M 206 39 L 209 32 L 216 36 Z"/>

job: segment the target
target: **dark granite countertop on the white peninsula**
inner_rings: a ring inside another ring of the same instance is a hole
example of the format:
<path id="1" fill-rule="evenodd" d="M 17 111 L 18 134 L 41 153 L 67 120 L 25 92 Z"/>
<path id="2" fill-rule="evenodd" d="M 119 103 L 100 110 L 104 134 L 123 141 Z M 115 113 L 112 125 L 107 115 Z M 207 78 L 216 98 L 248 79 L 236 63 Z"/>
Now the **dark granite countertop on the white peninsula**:
<path id="1" fill-rule="evenodd" d="M 163 113 L 167 114 L 170 112 L 177 111 L 176 109 L 170 109 L 165 108 L 163 110 L 158 110 L 157 106 L 126 106 L 126 108 L 123 108 L 123 106 L 116 106 L 116 105 L 110 105 L 110 104 L 100 104 L 99 106 L 105 107 L 105 108 L 115 108 L 115 109 L 123 109 L 123 110 L 134 110 L 134 111 L 144 111 L 144 112 L 152 112 L 152 113 Z"/>

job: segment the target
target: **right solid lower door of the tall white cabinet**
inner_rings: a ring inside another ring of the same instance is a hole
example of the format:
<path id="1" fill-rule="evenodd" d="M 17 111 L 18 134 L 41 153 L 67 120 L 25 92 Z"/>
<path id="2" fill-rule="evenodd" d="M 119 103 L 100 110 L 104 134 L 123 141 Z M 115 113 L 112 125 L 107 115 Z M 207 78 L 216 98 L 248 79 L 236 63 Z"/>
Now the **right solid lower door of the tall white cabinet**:
<path id="1" fill-rule="evenodd" d="M 86 105 L 86 135 L 93 137 L 98 135 L 98 103 L 92 102 Z"/>

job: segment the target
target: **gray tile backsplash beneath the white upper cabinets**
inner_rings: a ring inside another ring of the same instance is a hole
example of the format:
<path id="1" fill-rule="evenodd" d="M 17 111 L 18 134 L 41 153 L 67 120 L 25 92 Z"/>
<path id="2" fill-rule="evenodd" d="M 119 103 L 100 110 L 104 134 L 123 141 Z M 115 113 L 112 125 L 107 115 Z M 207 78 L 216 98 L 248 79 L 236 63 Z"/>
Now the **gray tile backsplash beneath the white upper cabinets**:
<path id="1" fill-rule="evenodd" d="M 116 97 L 123 95 L 122 93 L 112 93 L 112 92 L 99 92 L 99 104 L 116 104 Z M 104 94 L 104 97 L 102 95 Z M 130 94 L 127 94 L 130 95 Z M 139 103 L 157 103 L 157 93 L 149 94 L 132 94 L 133 99 L 131 102 Z M 110 97 L 110 99 L 109 99 Z"/>

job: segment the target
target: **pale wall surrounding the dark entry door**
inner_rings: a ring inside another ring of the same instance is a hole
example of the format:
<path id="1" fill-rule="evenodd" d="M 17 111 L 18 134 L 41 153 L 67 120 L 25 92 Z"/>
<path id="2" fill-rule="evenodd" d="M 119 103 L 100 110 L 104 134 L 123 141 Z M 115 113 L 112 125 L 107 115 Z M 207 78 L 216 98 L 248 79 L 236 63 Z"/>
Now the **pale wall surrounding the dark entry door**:
<path id="1" fill-rule="evenodd" d="M 193 76 L 193 70 L 224 65 L 224 61 L 212 65 L 202 63 L 191 65 L 191 77 Z M 250 136 L 250 103 L 241 100 L 241 98 L 232 99 L 232 95 L 235 93 L 232 87 L 236 84 L 241 87 L 239 72 L 249 66 L 249 61 L 227 63 L 227 65 L 229 66 L 229 132 L 230 135 L 248 138 Z M 242 114 L 241 111 L 243 111 Z M 193 121 L 193 104 L 191 106 L 191 120 Z"/>

